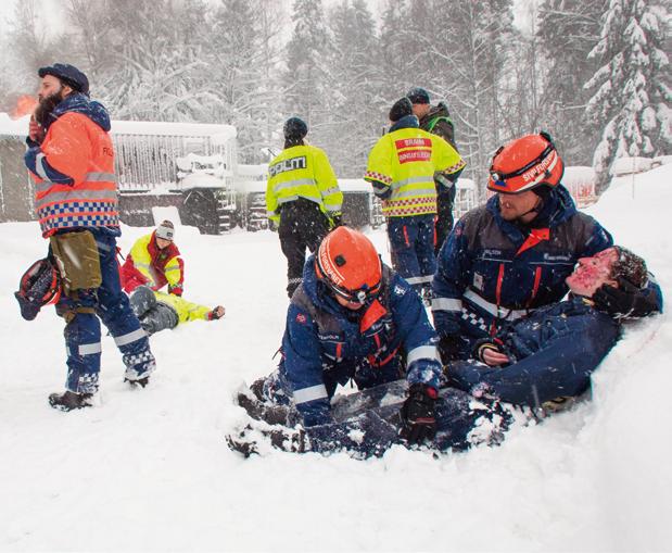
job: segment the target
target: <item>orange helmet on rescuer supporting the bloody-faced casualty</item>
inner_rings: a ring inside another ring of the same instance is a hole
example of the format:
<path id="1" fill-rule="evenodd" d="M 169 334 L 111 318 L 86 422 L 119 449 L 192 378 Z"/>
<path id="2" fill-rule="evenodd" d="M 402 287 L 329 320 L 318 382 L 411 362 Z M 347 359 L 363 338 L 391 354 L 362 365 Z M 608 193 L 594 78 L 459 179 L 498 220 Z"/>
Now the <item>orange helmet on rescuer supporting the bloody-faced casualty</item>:
<path id="1" fill-rule="evenodd" d="M 562 179 L 565 163 L 548 133 L 525 135 L 497 150 L 490 167 L 487 189 L 521 193 L 540 186 L 555 187 Z"/>

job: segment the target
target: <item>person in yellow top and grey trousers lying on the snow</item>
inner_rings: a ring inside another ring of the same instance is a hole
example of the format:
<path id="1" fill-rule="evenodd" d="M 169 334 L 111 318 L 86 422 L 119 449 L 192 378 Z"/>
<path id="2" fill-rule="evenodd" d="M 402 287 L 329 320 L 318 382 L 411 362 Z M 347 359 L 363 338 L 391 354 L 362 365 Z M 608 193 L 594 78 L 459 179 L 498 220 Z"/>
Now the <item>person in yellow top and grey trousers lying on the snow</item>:
<path id="1" fill-rule="evenodd" d="M 216 321 L 225 314 L 221 305 L 211 309 L 173 293 L 154 291 L 148 286 L 135 289 L 130 296 L 130 306 L 148 335 L 191 321 Z"/>

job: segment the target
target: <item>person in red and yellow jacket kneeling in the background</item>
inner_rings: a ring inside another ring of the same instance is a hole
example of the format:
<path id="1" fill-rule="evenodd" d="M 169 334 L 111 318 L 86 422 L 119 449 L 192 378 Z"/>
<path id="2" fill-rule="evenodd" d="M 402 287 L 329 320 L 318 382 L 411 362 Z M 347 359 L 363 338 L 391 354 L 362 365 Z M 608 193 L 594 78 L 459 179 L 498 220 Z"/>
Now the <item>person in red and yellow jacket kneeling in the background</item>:
<path id="1" fill-rule="evenodd" d="M 122 286 L 126 293 L 139 286 L 161 290 L 168 285 L 168 293 L 182 294 L 185 263 L 174 238 L 175 226 L 164 221 L 151 235 L 136 240 L 122 266 Z"/>

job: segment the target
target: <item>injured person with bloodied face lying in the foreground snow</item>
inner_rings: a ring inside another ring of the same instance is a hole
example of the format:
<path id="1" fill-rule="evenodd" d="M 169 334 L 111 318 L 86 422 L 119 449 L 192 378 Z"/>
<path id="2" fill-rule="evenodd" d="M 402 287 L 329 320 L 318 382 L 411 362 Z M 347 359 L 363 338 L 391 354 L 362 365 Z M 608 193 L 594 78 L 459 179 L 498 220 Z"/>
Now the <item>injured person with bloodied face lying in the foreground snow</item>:
<path id="1" fill-rule="evenodd" d="M 620 323 L 627 315 L 607 314 L 612 313 L 608 302 L 647 286 L 649 278 L 644 261 L 621 247 L 580 260 L 567 278 L 571 294 L 566 301 L 479 343 L 483 363 L 446 366 L 443 386 L 433 398 L 403 381 L 383 384 L 345 397 L 341 402 L 347 409 L 340 409 L 338 400 L 332 402 L 331 420 L 310 425 L 295 401 L 286 397 L 286 406 L 272 405 L 269 400 L 277 402 L 277 395 L 269 395 L 277 386 L 272 378 L 257 381 L 239 394 L 238 403 L 251 418 L 227 442 L 245 455 L 272 447 L 378 456 L 392 444 L 409 445 L 413 426 L 408 420 L 420 418 L 427 429 L 422 438 L 436 451 L 498 443 L 519 414 L 528 419 L 538 413 L 530 407 L 555 407 L 560 399 L 581 395 L 589 388 L 591 374 L 617 342 Z M 658 304 L 662 305 L 661 297 Z M 286 363 L 287 357 L 281 369 Z"/>

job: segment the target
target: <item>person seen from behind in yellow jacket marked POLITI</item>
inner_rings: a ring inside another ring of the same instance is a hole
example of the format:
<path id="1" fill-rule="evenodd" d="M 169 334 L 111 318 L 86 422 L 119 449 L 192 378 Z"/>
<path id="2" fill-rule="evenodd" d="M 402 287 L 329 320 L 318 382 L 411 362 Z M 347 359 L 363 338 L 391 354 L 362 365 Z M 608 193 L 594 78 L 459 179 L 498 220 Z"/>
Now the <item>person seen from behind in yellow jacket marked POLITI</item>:
<path id="1" fill-rule="evenodd" d="M 307 125 L 290 117 L 283 133 L 284 150 L 268 165 L 266 212 L 287 257 L 291 298 L 302 281 L 306 248 L 314 252 L 341 224 L 343 193 L 325 151 L 304 142 Z"/>

